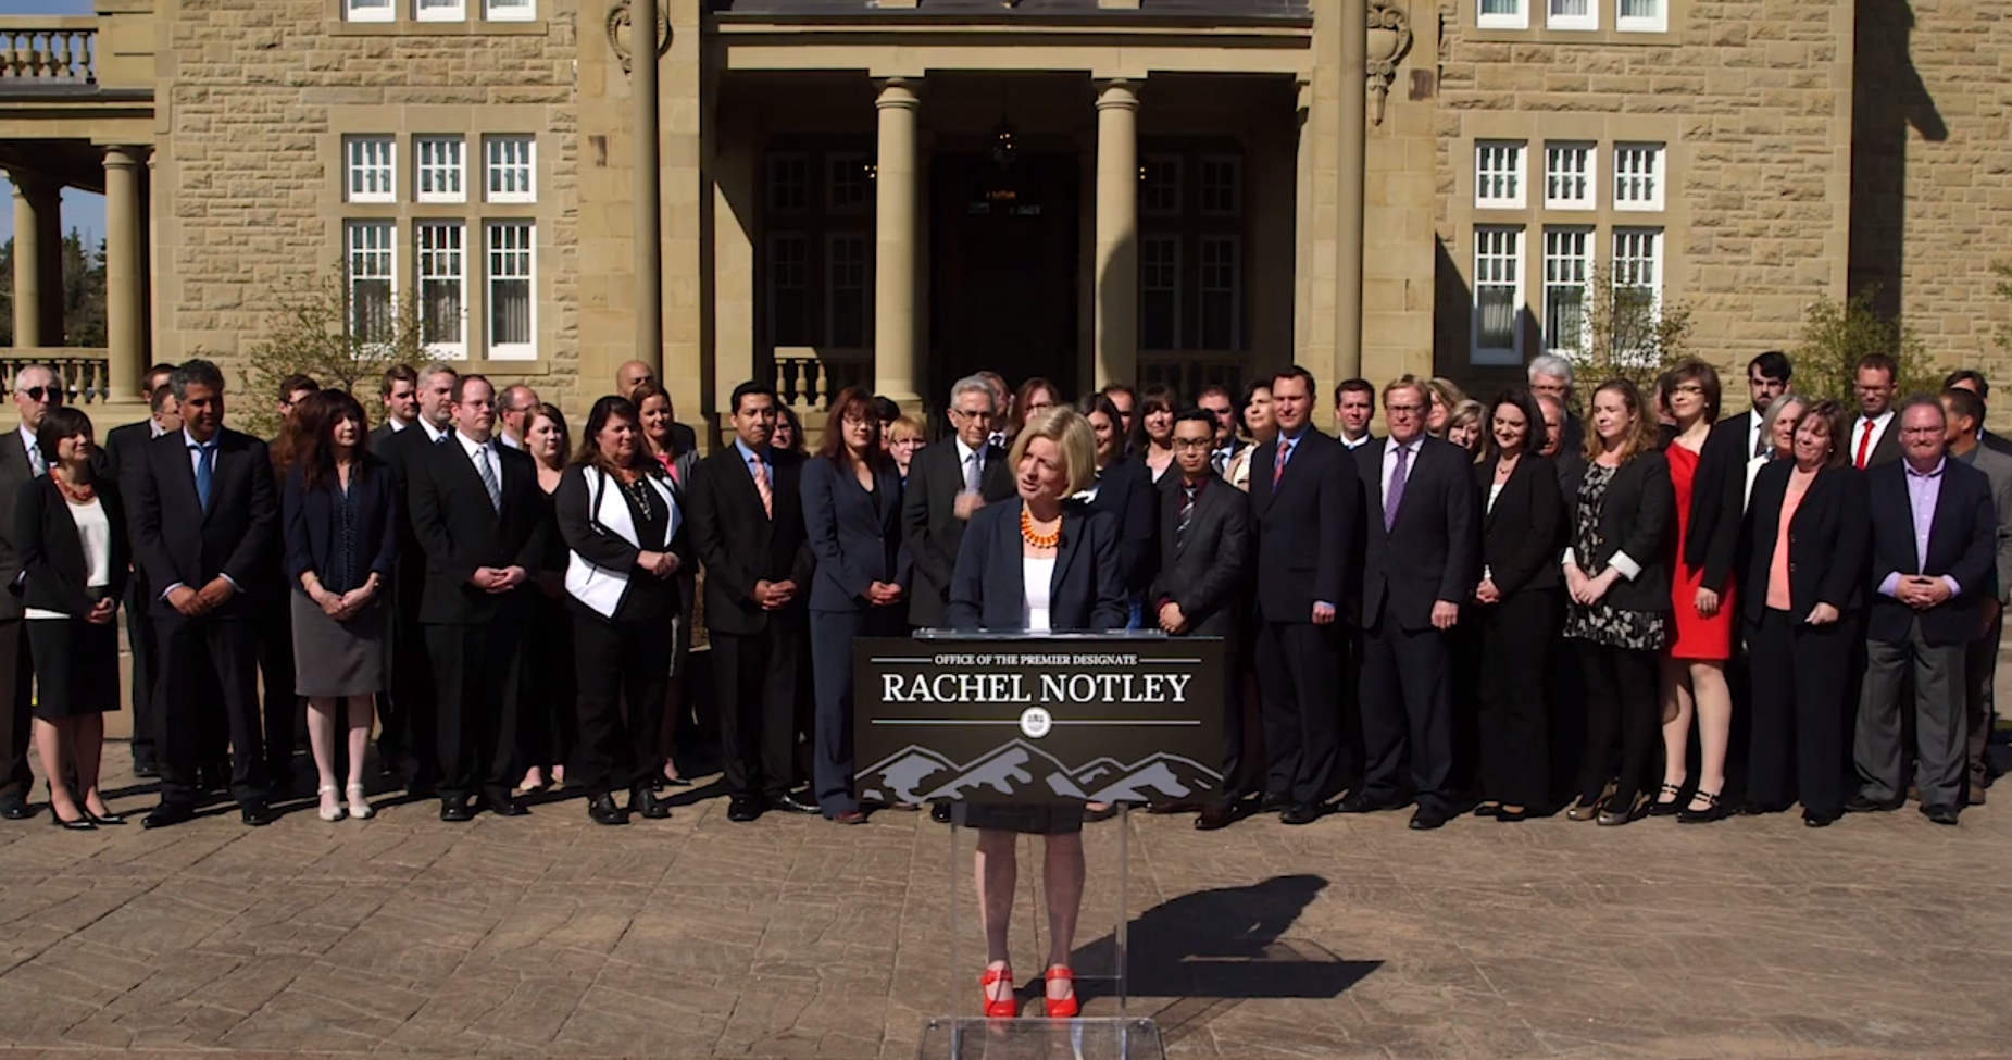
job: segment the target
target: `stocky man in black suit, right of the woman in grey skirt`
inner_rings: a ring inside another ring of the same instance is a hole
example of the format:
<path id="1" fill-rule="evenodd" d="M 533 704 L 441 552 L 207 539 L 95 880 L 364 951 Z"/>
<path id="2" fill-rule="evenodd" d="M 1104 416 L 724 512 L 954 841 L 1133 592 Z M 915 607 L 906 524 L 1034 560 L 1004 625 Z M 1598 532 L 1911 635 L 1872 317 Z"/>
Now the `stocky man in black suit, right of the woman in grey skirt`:
<path id="1" fill-rule="evenodd" d="M 412 533 L 427 557 L 418 603 L 433 662 L 441 821 L 469 821 L 469 797 L 499 817 L 527 813 L 511 799 L 523 636 L 545 557 L 549 501 L 537 465 L 497 445 L 495 388 L 455 380 L 455 430 L 410 455 Z"/>

